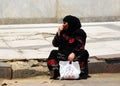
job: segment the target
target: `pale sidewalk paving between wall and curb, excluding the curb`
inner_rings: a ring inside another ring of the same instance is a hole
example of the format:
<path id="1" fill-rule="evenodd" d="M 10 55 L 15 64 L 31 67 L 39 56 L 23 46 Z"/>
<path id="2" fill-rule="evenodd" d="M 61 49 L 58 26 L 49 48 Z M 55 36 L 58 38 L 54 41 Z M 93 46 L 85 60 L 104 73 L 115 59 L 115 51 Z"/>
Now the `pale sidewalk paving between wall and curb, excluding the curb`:
<path id="1" fill-rule="evenodd" d="M 47 58 L 60 24 L 0 25 L 0 59 Z M 120 22 L 82 23 L 90 56 L 120 53 Z"/>

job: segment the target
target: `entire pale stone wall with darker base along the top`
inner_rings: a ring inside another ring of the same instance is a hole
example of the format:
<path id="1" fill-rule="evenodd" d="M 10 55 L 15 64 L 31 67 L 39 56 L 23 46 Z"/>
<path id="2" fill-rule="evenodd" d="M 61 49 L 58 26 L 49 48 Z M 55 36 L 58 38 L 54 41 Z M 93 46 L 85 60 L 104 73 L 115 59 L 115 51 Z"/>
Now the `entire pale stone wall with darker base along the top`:
<path id="1" fill-rule="evenodd" d="M 0 0 L 0 24 L 57 23 L 68 14 L 83 22 L 120 20 L 120 0 Z"/>

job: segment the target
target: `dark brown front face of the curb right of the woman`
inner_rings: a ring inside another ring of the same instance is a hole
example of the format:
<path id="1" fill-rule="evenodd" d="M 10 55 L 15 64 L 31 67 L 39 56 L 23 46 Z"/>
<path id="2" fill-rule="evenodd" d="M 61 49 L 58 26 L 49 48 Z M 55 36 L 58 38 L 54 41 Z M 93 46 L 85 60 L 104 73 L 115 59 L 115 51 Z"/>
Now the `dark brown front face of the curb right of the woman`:
<path id="1" fill-rule="evenodd" d="M 107 64 L 105 62 L 97 62 L 89 64 L 89 73 L 120 73 L 120 63 Z"/>

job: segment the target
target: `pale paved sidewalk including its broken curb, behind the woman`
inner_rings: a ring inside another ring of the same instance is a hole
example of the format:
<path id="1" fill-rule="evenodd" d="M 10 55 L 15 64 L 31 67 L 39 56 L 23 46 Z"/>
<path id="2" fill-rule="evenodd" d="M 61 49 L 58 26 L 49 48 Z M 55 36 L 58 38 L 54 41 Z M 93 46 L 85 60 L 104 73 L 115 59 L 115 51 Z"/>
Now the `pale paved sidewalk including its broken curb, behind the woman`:
<path id="1" fill-rule="evenodd" d="M 39 59 L 46 59 L 56 49 L 51 42 L 60 25 L 0 25 L 0 76 L 46 74 L 46 63 Z M 88 35 L 86 49 L 94 57 L 89 59 L 90 73 L 120 72 L 120 22 L 82 23 L 82 28 Z"/>

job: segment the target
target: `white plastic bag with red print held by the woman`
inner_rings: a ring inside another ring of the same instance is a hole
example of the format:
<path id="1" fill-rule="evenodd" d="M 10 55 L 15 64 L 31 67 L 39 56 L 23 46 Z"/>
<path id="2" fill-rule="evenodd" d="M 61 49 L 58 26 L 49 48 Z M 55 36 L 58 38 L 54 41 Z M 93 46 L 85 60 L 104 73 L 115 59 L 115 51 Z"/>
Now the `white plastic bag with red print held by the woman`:
<path id="1" fill-rule="evenodd" d="M 80 66 L 78 61 L 60 61 L 60 79 L 79 79 L 80 77 Z"/>

